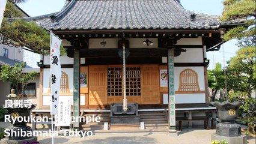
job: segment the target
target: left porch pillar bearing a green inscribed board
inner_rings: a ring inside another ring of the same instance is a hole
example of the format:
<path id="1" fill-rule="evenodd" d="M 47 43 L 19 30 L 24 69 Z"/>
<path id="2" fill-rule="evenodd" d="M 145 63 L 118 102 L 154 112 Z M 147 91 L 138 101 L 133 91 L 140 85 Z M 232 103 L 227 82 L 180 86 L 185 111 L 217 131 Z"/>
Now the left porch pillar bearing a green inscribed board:
<path id="1" fill-rule="evenodd" d="M 74 74 L 73 74 L 73 116 L 80 116 L 80 50 L 74 50 Z M 80 130 L 79 121 L 74 122 L 73 127 Z"/>

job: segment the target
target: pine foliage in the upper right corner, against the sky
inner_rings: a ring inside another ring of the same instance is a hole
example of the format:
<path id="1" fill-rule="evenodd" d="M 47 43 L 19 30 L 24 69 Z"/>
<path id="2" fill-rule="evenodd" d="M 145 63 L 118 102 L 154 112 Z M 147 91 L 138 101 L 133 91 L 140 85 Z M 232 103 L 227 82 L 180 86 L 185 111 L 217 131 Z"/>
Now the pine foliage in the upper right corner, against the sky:
<path id="1" fill-rule="evenodd" d="M 237 38 L 238 46 L 255 46 L 255 17 L 256 17 L 256 1 L 255 0 L 225 0 L 223 2 L 224 10 L 222 11 L 221 20 L 231 21 L 235 19 L 246 19 L 246 25 L 238 26 L 230 29 L 224 35 L 225 40 Z M 249 27 L 249 28 L 248 28 Z"/>

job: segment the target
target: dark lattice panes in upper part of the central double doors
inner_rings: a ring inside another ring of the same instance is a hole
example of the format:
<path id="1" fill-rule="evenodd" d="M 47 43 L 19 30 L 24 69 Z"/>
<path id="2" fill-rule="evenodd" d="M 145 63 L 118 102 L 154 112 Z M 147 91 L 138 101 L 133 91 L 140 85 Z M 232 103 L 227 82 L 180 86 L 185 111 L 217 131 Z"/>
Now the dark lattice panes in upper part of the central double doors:
<path id="1" fill-rule="evenodd" d="M 123 69 L 108 68 L 108 96 L 123 96 Z M 126 95 L 141 95 L 141 68 L 126 68 Z"/>

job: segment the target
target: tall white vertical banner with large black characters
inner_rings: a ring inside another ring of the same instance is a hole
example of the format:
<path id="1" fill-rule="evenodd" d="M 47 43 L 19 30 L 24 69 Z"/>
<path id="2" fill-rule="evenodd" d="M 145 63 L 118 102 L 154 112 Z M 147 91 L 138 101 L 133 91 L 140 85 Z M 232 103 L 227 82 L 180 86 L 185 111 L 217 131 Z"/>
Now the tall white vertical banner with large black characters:
<path id="1" fill-rule="evenodd" d="M 59 61 L 61 40 L 50 31 L 50 114 L 58 115 L 58 99 L 61 84 L 61 63 Z"/>

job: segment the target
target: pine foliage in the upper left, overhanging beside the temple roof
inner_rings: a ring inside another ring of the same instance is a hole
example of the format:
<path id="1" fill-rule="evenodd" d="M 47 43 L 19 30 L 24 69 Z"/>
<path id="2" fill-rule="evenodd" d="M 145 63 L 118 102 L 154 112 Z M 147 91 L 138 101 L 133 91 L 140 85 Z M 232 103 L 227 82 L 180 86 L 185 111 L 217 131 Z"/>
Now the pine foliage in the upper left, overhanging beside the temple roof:
<path id="1" fill-rule="evenodd" d="M 5 8 L 4 19 L 0 29 L 1 43 L 14 47 L 25 46 L 35 53 L 49 54 L 50 32 L 38 26 L 35 22 L 17 19 L 21 14 L 12 2 L 7 2 Z M 61 55 L 65 53 L 66 50 L 61 46 Z"/>

